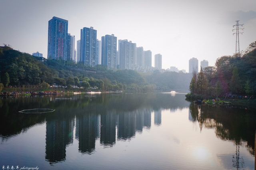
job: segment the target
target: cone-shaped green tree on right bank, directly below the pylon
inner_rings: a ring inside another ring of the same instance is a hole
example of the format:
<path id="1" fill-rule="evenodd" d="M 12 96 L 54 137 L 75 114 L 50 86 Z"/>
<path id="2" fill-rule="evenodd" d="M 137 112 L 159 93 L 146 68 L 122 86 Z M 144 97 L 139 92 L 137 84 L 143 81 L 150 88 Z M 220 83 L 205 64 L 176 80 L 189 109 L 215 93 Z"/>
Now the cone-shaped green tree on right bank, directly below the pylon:
<path id="1" fill-rule="evenodd" d="M 238 69 L 235 66 L 232 71 L 232 77 L 229 84 L 229 89 L 232 93 L 241 93 L 240 77 L 238 75 Z"/>

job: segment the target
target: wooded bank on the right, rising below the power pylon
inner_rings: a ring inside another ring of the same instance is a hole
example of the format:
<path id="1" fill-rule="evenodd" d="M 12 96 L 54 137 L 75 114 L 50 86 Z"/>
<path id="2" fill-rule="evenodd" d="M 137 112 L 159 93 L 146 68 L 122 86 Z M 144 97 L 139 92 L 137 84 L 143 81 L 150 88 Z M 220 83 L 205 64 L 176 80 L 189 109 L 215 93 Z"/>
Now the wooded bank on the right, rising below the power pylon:
<path id="1" fill-rule="evenodd" d="M 256 42 L 242 57 L 222 56 L 214 67 L 201 68 L 190 81 L 190 95 L 213 97 L 252 96 L 256 91 Z"/>

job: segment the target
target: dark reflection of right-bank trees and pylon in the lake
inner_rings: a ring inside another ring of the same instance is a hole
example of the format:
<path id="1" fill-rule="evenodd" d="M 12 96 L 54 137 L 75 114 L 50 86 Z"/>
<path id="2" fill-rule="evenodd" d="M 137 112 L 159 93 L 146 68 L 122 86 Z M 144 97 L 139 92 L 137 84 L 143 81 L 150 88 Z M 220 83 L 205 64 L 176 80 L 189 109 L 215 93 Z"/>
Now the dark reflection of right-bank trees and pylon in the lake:
<path id="1" fill-rule="evenodd" d="M 222 140 L 230 140 L 236 145 L 232 158 L 233 167 L 243 168 L 244 159 L 240 157 L 240 146 L 245 145 L 250 154 L 255 156 L 254 130 L 256 115 L 253 109 L 232 105 L 197 105 L 190 104 L 191 120 L 198 122 L 200 130 L 215 128 L 216 136 Z"/>

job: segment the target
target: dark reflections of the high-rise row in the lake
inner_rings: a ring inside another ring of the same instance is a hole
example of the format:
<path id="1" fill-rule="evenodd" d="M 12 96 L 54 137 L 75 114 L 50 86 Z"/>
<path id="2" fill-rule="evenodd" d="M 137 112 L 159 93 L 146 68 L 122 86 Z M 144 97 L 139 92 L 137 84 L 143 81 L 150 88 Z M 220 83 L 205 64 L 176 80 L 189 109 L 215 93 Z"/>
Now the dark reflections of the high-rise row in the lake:
<path id="1" fill-rule="evenodd" d="M 76 117 L 46 119 L 46 160 L 50 164 L 66 159 L 66 147 L 78 140 L 78 151 L 92 154 L 96 140 L 104 147 L 113 146 L 117 140 L 129 140 L 136 132 L 151 127 L 152 109 L 119 112 L 108 111 L 100 115 L 94 113 L 77 114 Z M 155 124 L 161 124 L 161 110 L 155 114 Z M 75 124 L 76 123 L 76 124 Z M 75 135 L 73 135 L 76 126 Z"/>

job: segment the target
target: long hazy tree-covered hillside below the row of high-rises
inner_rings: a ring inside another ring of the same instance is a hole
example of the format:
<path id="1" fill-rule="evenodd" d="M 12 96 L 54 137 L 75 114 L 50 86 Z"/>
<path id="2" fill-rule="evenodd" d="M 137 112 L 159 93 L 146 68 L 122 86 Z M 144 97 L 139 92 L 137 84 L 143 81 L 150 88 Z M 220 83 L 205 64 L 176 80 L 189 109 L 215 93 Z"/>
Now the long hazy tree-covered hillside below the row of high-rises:
<path id="1" fill-rule="evenodd" d="M 21 53 L 5 45 L 0 47 L 0 84 L 2 87 L 49 87 L 60 85 L 98 87 L 103 91 L 169 91 L 188 90 L 191 75 L 188 73 L 155 71 L 139 73 L 134 70 L 107 70 L 102 65 L 84 68 L 81 63 L 44 59 Z M 1 86 L 0 85 L 0 86 Z"/>

